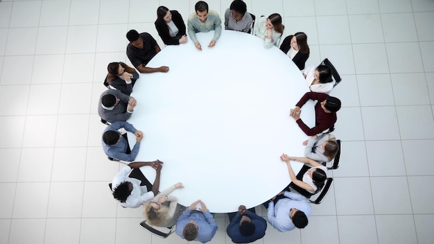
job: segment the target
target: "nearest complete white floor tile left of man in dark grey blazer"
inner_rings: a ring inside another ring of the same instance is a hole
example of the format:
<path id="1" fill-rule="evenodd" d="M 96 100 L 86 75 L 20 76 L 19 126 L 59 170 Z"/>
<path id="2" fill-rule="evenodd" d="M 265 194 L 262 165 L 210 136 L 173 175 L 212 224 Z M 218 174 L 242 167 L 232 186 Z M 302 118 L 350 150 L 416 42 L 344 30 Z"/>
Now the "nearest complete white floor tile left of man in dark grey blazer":
<path id="1" fill-rule="evenodd" d="M 88 114 L 92 83 L 62 84 L 59 114 Z"/>

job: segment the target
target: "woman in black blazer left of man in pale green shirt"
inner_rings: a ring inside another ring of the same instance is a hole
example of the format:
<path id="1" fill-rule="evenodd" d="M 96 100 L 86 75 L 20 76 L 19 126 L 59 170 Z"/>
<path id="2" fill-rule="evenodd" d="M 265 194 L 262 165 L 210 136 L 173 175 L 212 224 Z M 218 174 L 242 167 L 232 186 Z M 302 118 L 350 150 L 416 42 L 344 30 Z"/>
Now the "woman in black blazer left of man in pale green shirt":
<path id="1" fill-rule="evenodd" d="M 155 28 L 166 45 L 179 45 L 187 42 L 184 20 L 177 10 L 168 10 L 164 6 L 159 6 Z"/>

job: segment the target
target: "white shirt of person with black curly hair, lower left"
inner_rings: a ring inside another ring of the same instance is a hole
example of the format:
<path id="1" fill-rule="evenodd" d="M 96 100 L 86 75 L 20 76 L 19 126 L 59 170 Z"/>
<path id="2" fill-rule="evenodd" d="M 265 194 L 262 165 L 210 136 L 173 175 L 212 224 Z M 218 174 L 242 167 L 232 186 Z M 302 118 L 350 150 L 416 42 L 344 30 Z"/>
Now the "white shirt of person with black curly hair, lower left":
<path id="1" fill-rule="evenodd" d="M 140 207 L 141 204 L 144 204 L 148 200 L 153 199 L 154 193 L 153 191 L 148 191 L 146 186 L 140 186 L 141 181 L 130 178 L 128 175 L 130 174 L 131 168 L 130 166 L 125 166 L 117 173 L 117 175 L 113 178 L 112 182 L 112 191 L 116 189 L 116 187 L 122 182 L 131 182 L 132 183 L 132 191 L 128 196 L 125 202 L 120 202 L 123 207 Z"/>

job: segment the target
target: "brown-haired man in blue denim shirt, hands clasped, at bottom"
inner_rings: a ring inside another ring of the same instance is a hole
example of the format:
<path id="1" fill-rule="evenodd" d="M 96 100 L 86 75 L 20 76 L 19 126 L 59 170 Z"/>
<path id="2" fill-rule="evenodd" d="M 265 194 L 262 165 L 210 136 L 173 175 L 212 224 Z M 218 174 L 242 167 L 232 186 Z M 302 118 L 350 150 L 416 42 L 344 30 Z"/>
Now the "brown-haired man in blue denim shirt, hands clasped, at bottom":
<path id="1" fill-rule="evenodd" d="M 200 203 L 199 210 L 196 204 Z M 217 223 L 201 200 L 193 202 L 189 208 L 182 212 L 176 222 L 176 234 L 186 241 L 211 241 L 217 232 Z"/>

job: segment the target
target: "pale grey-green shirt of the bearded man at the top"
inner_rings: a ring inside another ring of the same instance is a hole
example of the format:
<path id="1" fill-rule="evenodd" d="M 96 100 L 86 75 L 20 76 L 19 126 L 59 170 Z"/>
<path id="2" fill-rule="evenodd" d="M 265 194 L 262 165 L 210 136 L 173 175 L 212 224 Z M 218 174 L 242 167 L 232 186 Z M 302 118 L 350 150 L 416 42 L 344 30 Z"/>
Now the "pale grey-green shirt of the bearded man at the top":
<path id="1" fill-rule="evenodd" d="M 222 32 L 222 21 L 214 10 L 209 10 L 207 20 L 204 23 L 200 21 L 196 12 L 193 12 L 189 17 L 187 28 L 189 30 L 189 37 L 193 43 L 198 42 L 196 33 L 208 32 L 209 30 L 215 30 L 213 40 L 217 41 Z"/>

